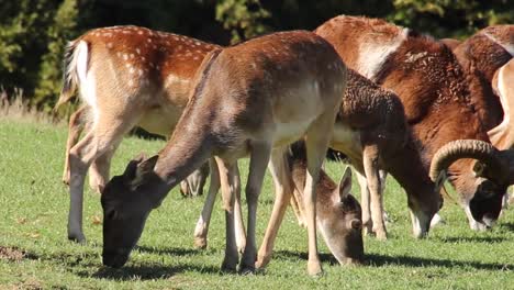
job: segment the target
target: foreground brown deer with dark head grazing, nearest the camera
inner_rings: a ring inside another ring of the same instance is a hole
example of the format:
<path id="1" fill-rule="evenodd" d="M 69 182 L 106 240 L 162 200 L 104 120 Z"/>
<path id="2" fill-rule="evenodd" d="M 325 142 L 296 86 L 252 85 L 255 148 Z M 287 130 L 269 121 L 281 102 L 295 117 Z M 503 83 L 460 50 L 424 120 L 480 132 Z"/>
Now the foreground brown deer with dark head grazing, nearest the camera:
<path id="1" fill-rule="evenodd" d="M 124 265 L 149 212 L 170 188 L 214 156 L 226 219 L 222 269 L 235 270 L 236 161 L 249 155 L 248 234 L 239 270 L 253 271 L 257 199 L 266 165 L 271 159 L 276 187 L 283 191 L 288 182 L 280 183 L 278 175 L 283 172 L 284 147 L 305 136 L 308 271 L 320 274 L 315 183 L 345 86 L 344 63 L 332 45 L 311 32 L 275 33 L 210 53 L 195 75 L 190 101 L 166 147 L 149 159 L 130 163 L 122 176 L 105 186 L 101 197 L 103 264 Z"/>

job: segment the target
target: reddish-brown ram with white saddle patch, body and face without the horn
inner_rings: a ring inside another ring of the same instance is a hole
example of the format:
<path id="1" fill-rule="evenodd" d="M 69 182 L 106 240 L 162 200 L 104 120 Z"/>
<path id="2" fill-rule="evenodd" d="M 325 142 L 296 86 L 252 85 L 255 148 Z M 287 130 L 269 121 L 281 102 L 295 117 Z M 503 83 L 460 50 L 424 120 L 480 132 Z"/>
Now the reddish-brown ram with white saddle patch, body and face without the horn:
<path id="1" fill-rule="evenodd" d="M 500 122 L 500 103 L 490 82 L 468 69 L 447 45 L 383 20 L 356 16 L 334 18 L 315 32 L 334 45 L 348 67 L 400 97 L 425 170 L 448 142 L 489 142 L 488 130 Z M 503 196 L 505 188 L 477 176 L 474 164 L 472 159 L 456 161 L 447 171 L 448 179 L 461 197 L 462 208 L 474 209 L 477 221 L 490 226 L 499 211 L 490 211 L 490 217 L 483 219 L 478 208 L 485 210 L 488 202 L 470 207 L 470 200 Z M 490 194 L 491 190 L 495 194 Z M 501 199 L 499 204 L 501 208 Z"/>

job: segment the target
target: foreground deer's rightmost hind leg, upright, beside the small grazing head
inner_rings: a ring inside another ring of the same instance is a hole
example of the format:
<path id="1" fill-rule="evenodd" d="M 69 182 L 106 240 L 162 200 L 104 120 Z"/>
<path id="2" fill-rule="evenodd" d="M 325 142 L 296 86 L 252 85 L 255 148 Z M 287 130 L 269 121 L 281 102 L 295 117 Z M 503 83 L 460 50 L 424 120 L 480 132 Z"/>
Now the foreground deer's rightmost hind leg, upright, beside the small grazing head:
<path id="1" fill-rule="evenodd" d="M 309 261 L 308 272 L 311 276 L 323 272 L 320 256 L 317 254 L 316 236 L 316 183 L 320 178 L 320 170 L 326 156 L 328 142 L 334 129 L 334 115 L 321 115 L 311 124 L 306 133 L 305 147 L 308 156 L 308 170 L 304 187 L 305 220 L 309 234 Z"/>

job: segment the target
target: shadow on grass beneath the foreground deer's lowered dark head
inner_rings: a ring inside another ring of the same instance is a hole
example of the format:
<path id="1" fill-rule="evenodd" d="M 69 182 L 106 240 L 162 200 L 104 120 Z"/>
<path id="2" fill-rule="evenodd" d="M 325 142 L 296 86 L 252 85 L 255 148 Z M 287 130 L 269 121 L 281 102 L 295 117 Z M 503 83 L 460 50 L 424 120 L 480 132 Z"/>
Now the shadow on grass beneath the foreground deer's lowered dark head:
<path id="1" fill-rule="evenodd" d="M 91 275 L 87 271 L 77 272 L 82 278 L 109 279 L 109 280 L 153 280 L 153 279 L 167 279 L 176 274 L 194 271 L 200 274 L 223 275 L 219 267 L 198 266 L 198 265 L 178 265 L 178 266 L 164 266 L 164 265 L 137 265 L 125 266 L 120 269 L 101 267 L 97 272 Z"/>

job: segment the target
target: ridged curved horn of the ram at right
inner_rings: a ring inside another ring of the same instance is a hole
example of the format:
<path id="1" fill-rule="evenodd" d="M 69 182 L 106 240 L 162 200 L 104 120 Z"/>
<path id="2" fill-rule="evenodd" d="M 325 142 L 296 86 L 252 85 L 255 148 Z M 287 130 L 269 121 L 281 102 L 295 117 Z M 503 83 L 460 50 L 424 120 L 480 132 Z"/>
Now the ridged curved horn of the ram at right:
<path id="1" fill-rule="evenodd" d="M 458 140 L 436 152 L 431 164 L 431 179 L 436 181 L 443 170 L 461 158 L 477 159 L 479 163 L 476 164 L 473 170 L 488 178 L 502 178 L 509 171 L 507 166 L 500 158 L 500 150 L 490 143 L 479 140 Z"/>

